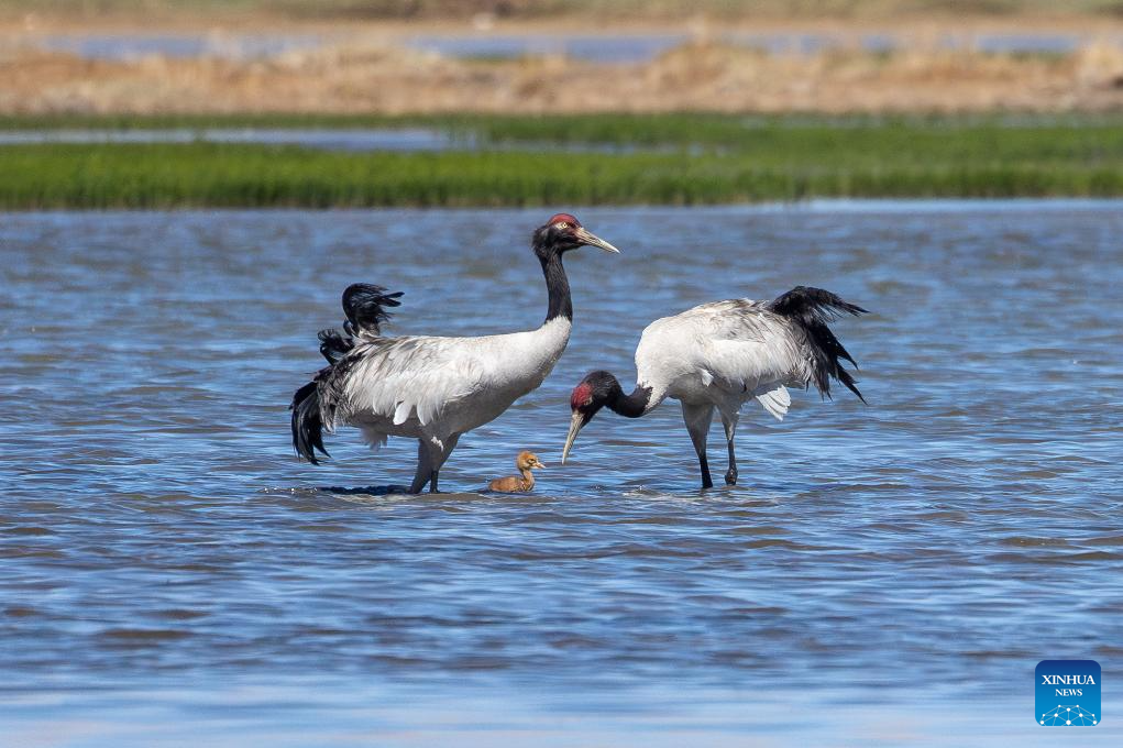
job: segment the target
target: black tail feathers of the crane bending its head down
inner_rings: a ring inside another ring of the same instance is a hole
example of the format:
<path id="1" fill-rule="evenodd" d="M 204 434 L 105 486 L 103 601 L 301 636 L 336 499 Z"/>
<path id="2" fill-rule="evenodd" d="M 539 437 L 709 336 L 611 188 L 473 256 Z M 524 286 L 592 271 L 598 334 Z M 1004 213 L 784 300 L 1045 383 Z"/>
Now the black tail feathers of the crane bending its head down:
<path id="1" fill-rule="evenodd" d="M 831 377 L 833 377 L 858 395 L 858 400 L 866 402 L 858 391 L 857 380 L 842 368 L 839 359 L 850 362 L 855 368 L 858 368 L 858 362 L 842 347 L 827 323 L 838 319 L 842 313 L 857 317 L 869 313 L 868 310 L 843 301 L 841 297 L 830 291 L 806 285 L 797 285 L 777 297 L 768 308 L 777 314 L 794 319 L 806 330 L 815 348 L 815 386 L 821 393 L 828 398 L 831 395 Z"/>

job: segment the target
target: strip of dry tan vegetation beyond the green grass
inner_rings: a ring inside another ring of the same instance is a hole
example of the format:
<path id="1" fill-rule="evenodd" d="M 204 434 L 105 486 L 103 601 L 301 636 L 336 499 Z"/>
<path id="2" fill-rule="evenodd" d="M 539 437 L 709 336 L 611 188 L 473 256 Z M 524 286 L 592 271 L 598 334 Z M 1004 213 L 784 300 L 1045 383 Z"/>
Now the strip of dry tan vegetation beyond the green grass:
<path id="1" fill-rule="evenodd" d="M 0 112 L 1104 111 L 1123 49 L 1066 56 L 916 48 L 768 55 L 695 43 L 654 61 L 465 61 L 350 44 L 268 60 L 0 54 Z"/>

